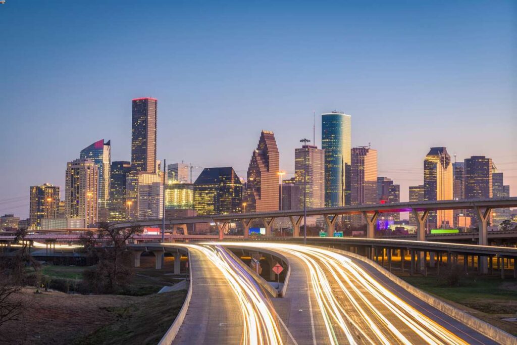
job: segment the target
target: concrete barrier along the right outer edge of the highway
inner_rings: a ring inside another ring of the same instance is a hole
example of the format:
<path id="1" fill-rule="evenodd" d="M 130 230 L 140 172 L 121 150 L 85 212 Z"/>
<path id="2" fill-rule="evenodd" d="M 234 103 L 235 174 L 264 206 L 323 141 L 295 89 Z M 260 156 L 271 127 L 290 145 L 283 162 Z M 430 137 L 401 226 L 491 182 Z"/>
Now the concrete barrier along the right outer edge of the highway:
<path id="1" fill-rule="evenodd" d="M 321 248 L 321 247 L 317 247 L 317 248 Z M 415 288 L 413 285 L 407 283 L 403 279 L 401 279 L 401 278 L 397 277 L 396 275 L 392 274 L 391 272 L 387 271 L 384 267 L 377 264 L 376 262 L 374 262 L 366 257 L 362 257 L 358 254 L 349 252 L 349 251 L 334 249 L 334 248 L 326 248 L 326 249 L 329 249 L 331 251 L 343 254 L 345 256 L 349 256 L 349 257 L 361 260 L 363 262 L 366 262 L 367 264 L 369 264 L 372 267 L 374 267 L 375 269 L 377 269 L 377 271 L 381 272 L 383 275 L 388 277 L 391 281 L 396 283 L 401 288 L 407 290 L 414 296 L 420 298 L 425 303 L 428 303 L 429 305 L 435 307 L 436 309 L 444 312 L 451 318 L 456 319 L 456 320 L 462 322 L 463 324 L 467 325 L 468 327 L 475 329 L 476 331 L 478 331 L 485 337 L 490 338 L 501 344 L 517 345 L 517 338 L 512 336 L 511 334 L 506 333 L 502 329 L 492 326 L 491 324 L 489 324 L 487 322 L 479 320 L 478 318 L 473 317 L 472 315 L 467 314 L 466 312 L 463 312 L 463 311 L 459 310 L 458 308 L 454 308 L 453 306 L 445 303 L 441 299 L 438 299 L 428 293 L 423 292 L 420 289 Z"/>

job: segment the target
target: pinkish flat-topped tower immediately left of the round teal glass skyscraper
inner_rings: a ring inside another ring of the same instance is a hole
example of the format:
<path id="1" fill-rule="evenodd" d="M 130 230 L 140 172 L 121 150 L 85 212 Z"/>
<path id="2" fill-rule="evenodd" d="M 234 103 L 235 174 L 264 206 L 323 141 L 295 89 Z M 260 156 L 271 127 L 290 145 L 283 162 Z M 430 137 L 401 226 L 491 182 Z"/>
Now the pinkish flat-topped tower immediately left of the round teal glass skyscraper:
<path id="1" fill-rule="evenodd" d="M 305 162 L 304 162 L 305 157 Z M 306 167 L 307 207 L 325 207 L 325 151 L 316 146 L 303 145 L 295 148 L 295 185 L 301 190 L 300 205 L 303 207 L 304 168 Z"/>

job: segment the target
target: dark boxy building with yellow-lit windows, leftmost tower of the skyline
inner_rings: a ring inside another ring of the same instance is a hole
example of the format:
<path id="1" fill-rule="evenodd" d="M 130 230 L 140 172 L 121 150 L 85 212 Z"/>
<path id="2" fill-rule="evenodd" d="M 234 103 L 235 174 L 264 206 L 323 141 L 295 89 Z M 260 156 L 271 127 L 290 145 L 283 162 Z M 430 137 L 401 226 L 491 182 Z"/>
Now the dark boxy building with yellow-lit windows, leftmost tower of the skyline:
<path id="1" fill-rule="evenodd" d="M 41 229 L 41 219 L 57 218 L 59 215 L 59 187 L 50 184 L 31 186 L 29 201 L 29 226 Z"/>

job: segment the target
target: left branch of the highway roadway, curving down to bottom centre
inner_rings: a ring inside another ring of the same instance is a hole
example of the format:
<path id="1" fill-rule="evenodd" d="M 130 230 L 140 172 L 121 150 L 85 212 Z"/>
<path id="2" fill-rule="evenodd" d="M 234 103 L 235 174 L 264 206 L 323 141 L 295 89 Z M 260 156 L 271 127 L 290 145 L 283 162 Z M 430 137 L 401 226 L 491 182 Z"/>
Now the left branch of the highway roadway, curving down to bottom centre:
<path id="1" fill-rule="evenodd" d="M 281 344 L 275 311 L 262 289 L 220 246 L 189 250 L 192 299 L 174 344 Z"/>

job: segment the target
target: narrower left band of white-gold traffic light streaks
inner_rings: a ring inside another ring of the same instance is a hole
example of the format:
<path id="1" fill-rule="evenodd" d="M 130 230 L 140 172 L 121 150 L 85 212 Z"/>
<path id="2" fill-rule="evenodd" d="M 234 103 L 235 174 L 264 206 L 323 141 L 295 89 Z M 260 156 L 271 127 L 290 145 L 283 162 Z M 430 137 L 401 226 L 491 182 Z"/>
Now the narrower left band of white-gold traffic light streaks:
<path id="1" fill-rule="evenodd" d="M 200 250 L 222 272 L 237 296 L 244 321 L 242 344 L 281 344 L 282 339 L 269 299 L 255 280 L 221 246 L 184 245 Z M 238 312 L 236 310 L 236 312 Z M 239 332 L 240 330 L 235 330 Z"/>

